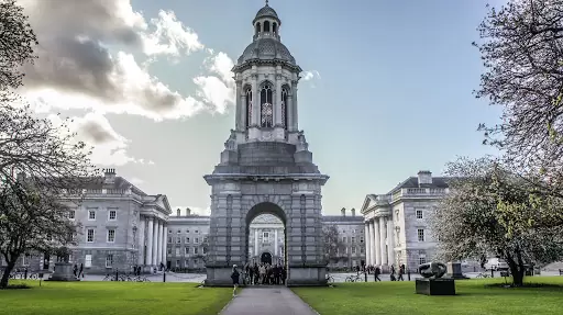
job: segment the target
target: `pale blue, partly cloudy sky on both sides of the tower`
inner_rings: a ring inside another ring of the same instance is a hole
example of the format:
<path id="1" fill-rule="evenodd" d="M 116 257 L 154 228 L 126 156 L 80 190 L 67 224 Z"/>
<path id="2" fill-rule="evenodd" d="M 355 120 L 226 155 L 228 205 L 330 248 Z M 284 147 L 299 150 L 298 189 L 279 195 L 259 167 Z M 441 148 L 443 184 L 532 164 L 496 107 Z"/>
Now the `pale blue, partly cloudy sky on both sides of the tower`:
<path id="1" fill-rule="evenodd" d="M 93 161 L 147 193 L 203 213 L 234 126 L 230 69 L 262 0 L 21 0 L 38 59 L 22 92 L 41 115 L 74 117 Z M 324 213 L 358 209 L 420 169 L 492 153 L 478 123 L 471 43 L 485 1 L 272 0 L 305 70 L 300 127 L 331 176 Z"/>

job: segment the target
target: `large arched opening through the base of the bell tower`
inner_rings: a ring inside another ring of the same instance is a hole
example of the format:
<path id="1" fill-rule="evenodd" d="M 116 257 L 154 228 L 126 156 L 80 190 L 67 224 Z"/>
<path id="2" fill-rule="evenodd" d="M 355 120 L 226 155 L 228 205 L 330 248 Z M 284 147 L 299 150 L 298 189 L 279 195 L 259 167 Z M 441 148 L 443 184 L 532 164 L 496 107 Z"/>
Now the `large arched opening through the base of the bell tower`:
<path id="1" fill-rule="evenodd" d="M 286 214 L 263 202 L 246 214 L 247 283 L 285 284 L 287 279 Z"/>

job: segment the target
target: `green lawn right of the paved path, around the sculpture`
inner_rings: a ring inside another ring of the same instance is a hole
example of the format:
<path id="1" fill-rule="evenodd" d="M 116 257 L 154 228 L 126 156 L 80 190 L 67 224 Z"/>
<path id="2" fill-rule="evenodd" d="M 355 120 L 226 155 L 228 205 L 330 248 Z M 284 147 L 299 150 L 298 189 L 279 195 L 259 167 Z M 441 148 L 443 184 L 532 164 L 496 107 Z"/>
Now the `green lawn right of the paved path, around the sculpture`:
<path id="1" fill-rule="evenodd" d="M 455 296 L 415 294 L 415 282 L 336 283 L 335 288 L 295 288 L 321 315 L 331 314 L 561 314 L 563 277 L 529 278 L 543 288 L 497 288 L 503 279 L 457 280 Z M 554 286 L 553 284 L 561 285 Z"/>

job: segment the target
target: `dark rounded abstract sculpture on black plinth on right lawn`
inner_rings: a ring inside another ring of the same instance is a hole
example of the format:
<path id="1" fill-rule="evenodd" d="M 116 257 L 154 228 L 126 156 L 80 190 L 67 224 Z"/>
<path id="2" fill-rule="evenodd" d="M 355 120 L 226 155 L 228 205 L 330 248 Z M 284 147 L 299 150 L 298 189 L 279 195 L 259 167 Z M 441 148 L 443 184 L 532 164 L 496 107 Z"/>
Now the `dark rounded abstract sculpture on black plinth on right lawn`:
<path id="1" fill-rule="evenodd" d="M 416 280 L 417 294 L 426 295 L 455 295 L 453 279 L 443 279 L 446 267 L 442 262 L 422 263 L 418 267 L 422 279 Z"/>

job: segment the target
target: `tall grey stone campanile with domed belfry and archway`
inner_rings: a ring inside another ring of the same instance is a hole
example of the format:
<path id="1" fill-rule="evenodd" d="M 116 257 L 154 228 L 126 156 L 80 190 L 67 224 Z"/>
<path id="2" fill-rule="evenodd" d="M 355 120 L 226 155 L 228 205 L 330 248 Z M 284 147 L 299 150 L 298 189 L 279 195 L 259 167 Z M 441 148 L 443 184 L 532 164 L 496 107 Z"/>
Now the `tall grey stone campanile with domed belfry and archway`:
<path id="1" fill-rule="evenodd" d="M 282 20 L 267 1 L 252 21 L 253 41 L 232 71 L 236 82 L 234 130 L 221 161 L 205 176 L 211 187 L 207 283 L 231 283 L 233 265 L 249 257 L 249 226 L 269 213 L 285 226 L 288 285 L 325 284 L 321 188 L 329 179 L 312 162 L 298 128 L 301 68 L 282 43 Z"/>

